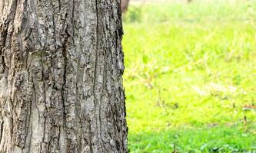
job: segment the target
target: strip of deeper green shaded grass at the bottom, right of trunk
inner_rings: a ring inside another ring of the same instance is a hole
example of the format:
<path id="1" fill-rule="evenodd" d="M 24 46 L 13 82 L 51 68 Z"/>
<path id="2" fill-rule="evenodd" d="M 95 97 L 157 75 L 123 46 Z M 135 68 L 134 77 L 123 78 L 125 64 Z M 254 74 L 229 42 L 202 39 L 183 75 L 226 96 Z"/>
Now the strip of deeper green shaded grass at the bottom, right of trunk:
<path id="1" fill-rule="evenodd" d="M 243 129 L 179 129 L 129 136 L 131 152 L 245 152 L 256 149 L 255 136 Z M 254 146 L 254 147 L 253 147 Z"/>

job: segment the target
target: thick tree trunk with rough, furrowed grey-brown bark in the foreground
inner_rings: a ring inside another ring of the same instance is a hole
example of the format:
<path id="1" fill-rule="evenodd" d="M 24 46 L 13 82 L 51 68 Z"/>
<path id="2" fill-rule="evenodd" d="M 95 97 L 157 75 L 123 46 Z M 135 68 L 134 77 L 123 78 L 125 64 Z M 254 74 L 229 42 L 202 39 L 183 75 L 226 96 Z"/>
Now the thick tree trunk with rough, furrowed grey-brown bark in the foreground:
<path id="1" fill-rule="evenodd" d="M 127 152 L 120 0 L 0 8 L 0 152 Z"/>

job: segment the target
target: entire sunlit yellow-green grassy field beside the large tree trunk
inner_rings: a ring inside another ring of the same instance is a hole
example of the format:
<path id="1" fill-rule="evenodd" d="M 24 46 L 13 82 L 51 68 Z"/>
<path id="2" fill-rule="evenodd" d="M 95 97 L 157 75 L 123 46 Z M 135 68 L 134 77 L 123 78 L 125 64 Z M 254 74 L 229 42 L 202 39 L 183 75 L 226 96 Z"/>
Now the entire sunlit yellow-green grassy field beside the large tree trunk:
<path id="1" fill-rule="evenodd" d="M 256 2 L 131 5 L 130 152 L 256 152 Z"/>

